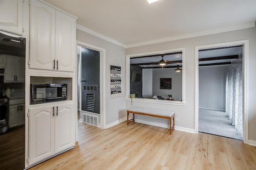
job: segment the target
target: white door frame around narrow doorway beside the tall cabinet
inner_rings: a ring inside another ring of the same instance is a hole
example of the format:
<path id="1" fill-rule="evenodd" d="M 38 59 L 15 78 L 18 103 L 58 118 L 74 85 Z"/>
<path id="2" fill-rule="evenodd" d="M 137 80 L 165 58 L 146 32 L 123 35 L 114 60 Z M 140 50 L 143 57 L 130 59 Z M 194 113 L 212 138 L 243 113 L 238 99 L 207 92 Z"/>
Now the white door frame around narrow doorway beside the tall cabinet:
<path id="1" fill-rule="evenodd" d="M 106 129 L 106 97 L 105 97 L 105 92 L 106 92 L 106 49 L 97 47 L 95 45 L 90 45 L 88 43 L 84 43 L 82 41 L 76 41 L 76 83 L 77 83 L 77 74 L 78 74 L 78 51 L 77 51 L 77 46 L 82 46 L 88 49 L 92 49 L 94 51 L 99 51 L 100 52 L 100 128 L 101 129 Z M 75 85 L 77 86 L 77 84 Z M 78 93 L 78 89 L 76 89 L 76 94 Z M 80 95 L 81 96 L 81 95 Z M 77 120 L 77 104 L 78 100 L 75 98 L 75 108 L 76 108 L 76 120 Z M 80 108 L 81 109 L 81 108 Z M 78 125 L 76 121 L 76 141 L 78 141 Z"/>

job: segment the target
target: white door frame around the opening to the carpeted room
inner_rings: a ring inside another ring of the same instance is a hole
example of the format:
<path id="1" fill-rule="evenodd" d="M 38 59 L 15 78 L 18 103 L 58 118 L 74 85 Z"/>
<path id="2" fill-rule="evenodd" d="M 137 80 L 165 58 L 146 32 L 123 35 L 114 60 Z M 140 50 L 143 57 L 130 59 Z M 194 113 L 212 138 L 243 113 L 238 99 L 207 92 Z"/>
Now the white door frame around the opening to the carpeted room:
<path id="1" fill-rule="evenodd" d="M 199 61 L 198 61 L 198 51 L 201 49 L 210 49 L 218 47 L 229 47 L 243 45 L 243 141 L 248 144 L 248 132 L 249 132 L 249 113 L 248 113 L 248 59 L 249 59 L 249 40 L 232 41 L 226 43 L 217 43 L 210 45 L 200 45 L 195 47 L 195 132 L 198 133 L 198 98 L 199 98 Z"/>

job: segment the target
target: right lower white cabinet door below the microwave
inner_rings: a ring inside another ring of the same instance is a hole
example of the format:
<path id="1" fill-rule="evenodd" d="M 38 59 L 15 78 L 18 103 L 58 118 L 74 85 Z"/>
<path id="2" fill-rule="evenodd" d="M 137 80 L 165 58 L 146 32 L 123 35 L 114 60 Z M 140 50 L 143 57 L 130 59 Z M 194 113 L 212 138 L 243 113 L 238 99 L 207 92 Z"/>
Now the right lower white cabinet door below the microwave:
<path id="1" fill-rule="evenodd" d="M 73 146 L 73 107 L 73 104 L 58 105 L 58 108 L 56 106 L 58 115 L 55 117 L 55 152 Z"/>

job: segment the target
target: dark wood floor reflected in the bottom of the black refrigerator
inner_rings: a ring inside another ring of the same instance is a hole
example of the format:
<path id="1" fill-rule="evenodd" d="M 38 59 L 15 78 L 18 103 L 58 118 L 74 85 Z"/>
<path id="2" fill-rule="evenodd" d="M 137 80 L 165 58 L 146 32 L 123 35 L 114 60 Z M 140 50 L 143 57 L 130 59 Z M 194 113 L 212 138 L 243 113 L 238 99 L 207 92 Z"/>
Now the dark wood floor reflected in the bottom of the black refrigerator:
<path id="1" fill-rule="evenodd" d="M 0 135 L 0 170 L 25 168 L 25 126 Z"/>

